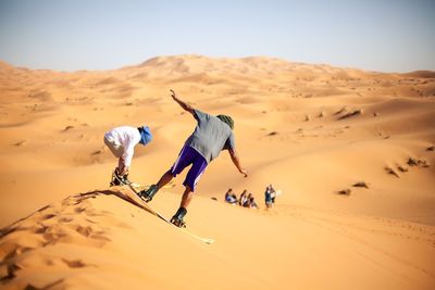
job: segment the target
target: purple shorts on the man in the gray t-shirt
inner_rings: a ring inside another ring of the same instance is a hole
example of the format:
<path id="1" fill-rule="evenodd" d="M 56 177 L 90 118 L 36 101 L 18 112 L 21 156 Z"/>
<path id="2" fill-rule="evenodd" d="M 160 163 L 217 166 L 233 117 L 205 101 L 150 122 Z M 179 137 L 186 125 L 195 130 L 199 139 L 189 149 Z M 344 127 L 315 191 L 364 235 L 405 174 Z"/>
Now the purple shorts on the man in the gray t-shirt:
<path id="1" fill-rule="evenodd" d="M 178 159 L 171 167 L 171 173 L 175 177 L 190 164 L 192 165 L 187 173 L 186 179 L 184 180 L 183 185 L 185 187 L 189 187 L 191 191 L 195 191 L 195 188 L 197 187 L 197 184 L 208 165 L 206 159 L 201 154 L 199 154 L 198 151 L 189 146 L 183 147 L 182 151 L 178 154 Z"/>

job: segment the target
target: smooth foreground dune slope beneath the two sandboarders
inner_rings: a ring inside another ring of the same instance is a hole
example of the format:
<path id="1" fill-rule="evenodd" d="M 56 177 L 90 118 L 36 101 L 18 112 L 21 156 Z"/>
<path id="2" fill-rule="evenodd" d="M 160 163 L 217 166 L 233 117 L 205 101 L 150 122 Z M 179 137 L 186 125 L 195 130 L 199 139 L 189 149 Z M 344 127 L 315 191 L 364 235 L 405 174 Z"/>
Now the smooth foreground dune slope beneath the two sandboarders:
<path id="1" fill-rule="evenodd" d="M 171 213 L 177 197 L 160 194 L 153 206 Z M 3 286 L 431 289 L 435 281 L 427 226 L 288 204 L 250 212 L 199 198 L 189 226 L 216 239 L 208 245 L 136 202 L 120 188 L 80 193 L 3 229 Z"/>

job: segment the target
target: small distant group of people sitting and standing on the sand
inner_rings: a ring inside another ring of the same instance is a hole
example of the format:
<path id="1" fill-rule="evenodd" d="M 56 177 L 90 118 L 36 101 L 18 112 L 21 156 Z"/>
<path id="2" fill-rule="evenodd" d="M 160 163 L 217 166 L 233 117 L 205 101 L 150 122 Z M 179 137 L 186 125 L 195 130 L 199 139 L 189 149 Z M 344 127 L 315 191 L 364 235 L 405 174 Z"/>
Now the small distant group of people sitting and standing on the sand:
<path id="1" fill-rule="evenodd" d="M 264 191 L 265 206 L 268 209 L 272 207 L 272 205 L 275 203 L 275 198 L 276 190 L 272 187 L 272 185 L 269 185 Z M 259 209 L 256 202 L 256 198 L 251 192 L 248 192 L 248 190 L 246 189 L 241 192 L 240 198 L 237 198 L 237 194 L 233 191 L 232 188 L 229 188 L 228 191 L 226 191 L 225 193 L 225 202 L 231 204 L 238 204 L 243 207 Z"/>

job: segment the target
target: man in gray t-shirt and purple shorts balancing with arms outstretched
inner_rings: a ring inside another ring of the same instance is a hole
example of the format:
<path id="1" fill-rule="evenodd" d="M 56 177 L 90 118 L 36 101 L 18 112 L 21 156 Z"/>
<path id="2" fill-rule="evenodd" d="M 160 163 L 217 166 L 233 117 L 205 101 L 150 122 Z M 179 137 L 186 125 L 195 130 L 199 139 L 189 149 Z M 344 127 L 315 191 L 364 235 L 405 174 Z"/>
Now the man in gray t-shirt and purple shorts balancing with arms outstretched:
<path id="1" fill-rule="evenodd" d="M 184 180 L 185 191 L 182 197 L 179 209 L 171 219 L 177 227 L 184 227 L 184 216 L 187 214 L 187 206 L 194 198 L 197 184 L 201 178 L 209 163 L 217 157 L 222 150 L 228 150 L 229 156 L 239 173 L 245 177 L 248 172 L 241 166 L 235 144 L 233 134 L 234 121 L 227 115 L 212 116 L 190 104 L 178 99 L 176 93 L 171 90 L 172 99 L 177 102 L 185 111 L 189 112 L 197 121 L 194 133 L 187 138 L 182 151 L 178 154 L 174 165 L 163 174 L 160 180 L 152 185 L 148 190 L 142 190 L 139 194 L 148 201 L 151 201 L 158 190 L 170 182 L 172 178 L 183 172 L 184 168 L 191 165 Z"/>

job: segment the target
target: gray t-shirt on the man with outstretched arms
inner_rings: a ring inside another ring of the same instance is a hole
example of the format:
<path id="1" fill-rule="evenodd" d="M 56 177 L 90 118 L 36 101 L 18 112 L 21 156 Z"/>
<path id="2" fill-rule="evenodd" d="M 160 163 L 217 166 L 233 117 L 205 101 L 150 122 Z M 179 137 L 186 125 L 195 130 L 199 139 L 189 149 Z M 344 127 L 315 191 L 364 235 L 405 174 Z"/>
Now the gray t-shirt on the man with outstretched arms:
<path id="1" fill-rule="evenodd" d="M 199 110 L 194 111 L 194 116 L 198 125 L 185 146 L 197 150 L 207 163 L 217 157 L 222 150 L 236 148 L 233 130 L 220 118 Z"/>

